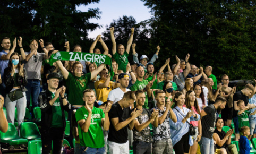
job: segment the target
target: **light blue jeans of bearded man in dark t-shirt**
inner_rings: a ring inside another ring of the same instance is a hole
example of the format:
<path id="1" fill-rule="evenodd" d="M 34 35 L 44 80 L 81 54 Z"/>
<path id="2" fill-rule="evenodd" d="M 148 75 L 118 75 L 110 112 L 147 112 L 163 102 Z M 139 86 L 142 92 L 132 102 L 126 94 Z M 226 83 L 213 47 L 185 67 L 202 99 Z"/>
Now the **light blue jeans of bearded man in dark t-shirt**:
<path id="1" fill-rule="evenodd" d="M 199 144 L 200 144 L 201 153 L 209 153 L 209 154 L 215 153 L 214 152 L 214 139 L 202 137 Z"/>

